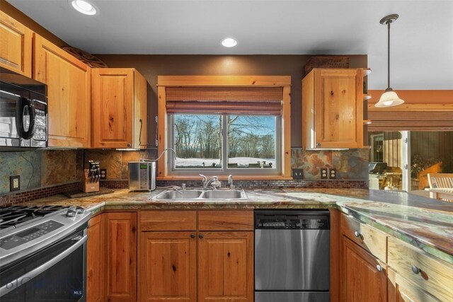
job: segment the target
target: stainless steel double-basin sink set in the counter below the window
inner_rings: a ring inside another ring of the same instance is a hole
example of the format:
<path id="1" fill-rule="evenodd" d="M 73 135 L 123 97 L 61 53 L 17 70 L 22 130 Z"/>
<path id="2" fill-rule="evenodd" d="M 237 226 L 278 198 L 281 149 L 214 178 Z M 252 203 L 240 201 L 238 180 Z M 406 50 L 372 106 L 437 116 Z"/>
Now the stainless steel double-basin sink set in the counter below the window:
<path id="1" fill-rule="evenodd" d="M 248 199 L 244 190 L 166 190 L 151 198 L 152 200 L 241 200 Z"/>

